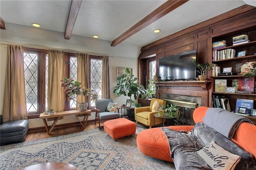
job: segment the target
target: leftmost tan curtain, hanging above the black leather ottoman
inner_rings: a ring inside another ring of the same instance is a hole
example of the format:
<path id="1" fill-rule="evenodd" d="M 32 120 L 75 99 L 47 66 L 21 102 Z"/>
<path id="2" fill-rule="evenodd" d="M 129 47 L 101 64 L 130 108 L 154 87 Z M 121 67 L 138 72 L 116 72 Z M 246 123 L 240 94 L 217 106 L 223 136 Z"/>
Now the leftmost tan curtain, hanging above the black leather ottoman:
<path id="1" fill-rule="evenodd" d="M 4 85 L 3 119 L 28 119 L 26 109 L 23 47 L 8 44 Z"/>

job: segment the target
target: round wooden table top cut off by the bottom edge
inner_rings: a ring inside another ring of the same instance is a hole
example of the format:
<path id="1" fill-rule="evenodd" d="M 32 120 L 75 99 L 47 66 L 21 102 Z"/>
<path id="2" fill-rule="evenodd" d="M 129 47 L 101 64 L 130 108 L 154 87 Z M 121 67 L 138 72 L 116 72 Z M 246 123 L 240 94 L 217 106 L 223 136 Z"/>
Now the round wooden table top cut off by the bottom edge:
<path id="1" fill-rule="evenodd" d="M 47 162 L 31 165 L 19 170 L 78 170 L 78 168 L 65 162 Z"/>

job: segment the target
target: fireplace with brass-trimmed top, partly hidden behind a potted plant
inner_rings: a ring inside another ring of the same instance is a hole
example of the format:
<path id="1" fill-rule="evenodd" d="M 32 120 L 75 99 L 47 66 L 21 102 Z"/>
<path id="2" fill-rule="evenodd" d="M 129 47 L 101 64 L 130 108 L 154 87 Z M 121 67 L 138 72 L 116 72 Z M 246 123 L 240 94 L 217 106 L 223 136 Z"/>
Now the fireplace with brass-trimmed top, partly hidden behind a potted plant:
<path id="1" fill-rule="evenodd" d="M 186 101 L 176 101 L 170 99 L 164 99 L 166 101 L 166 105 L 177 105 L 180 110 L 180 118 L 177 120 L 180 125 L 195 125 L 193 120 L 193 113 L 196 107 L 198 107 L 197 103 L 186 102 Z"/>

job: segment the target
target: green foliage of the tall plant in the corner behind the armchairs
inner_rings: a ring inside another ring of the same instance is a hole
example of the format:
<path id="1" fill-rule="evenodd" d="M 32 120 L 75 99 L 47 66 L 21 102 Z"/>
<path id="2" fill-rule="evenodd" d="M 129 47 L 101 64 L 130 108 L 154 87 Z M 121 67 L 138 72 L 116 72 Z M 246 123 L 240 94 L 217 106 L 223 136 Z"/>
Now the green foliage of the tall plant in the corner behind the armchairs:
<path id="1" fill-rule="evenodd" d="M 138 79 L 131 75 L 128 68 L 125 69 L 125 73 L 117 77 L 118 83 L 114 88 L 114 93 L 118 96 L 124 95 L 129 96 L 130 99 L 132 95 L 136 100 L 139 95 L 145 95 L 147 93 L 143 85 L 138 84 Z"/>

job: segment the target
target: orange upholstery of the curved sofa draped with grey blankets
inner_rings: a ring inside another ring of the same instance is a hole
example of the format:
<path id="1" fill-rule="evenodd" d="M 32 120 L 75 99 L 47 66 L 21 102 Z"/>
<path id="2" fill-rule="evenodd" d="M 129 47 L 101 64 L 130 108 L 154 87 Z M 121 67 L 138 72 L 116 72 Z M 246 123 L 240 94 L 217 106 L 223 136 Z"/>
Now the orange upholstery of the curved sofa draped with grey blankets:
<path id="1" fill-rule="evenodd" d="M 208 107 L 198 107 L 195 109 L 193 119 L 195 123 L 203 122 L 203 117 Z M 172 130 L 185 130 L 189 132 L 194 126 L 169 126 Z M 166 135 L 161 127 L 142 130 L 137 135 L 138 149 L 145 155 L 153 158 L 173 162 Z M 254 155 L 256 158 L 256 126 L 247 122 L 242 122 L 237 128 L 231 141 Z"/>

